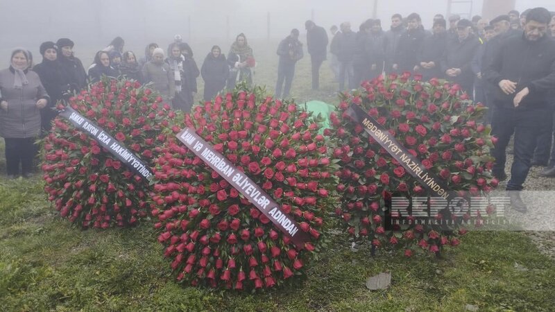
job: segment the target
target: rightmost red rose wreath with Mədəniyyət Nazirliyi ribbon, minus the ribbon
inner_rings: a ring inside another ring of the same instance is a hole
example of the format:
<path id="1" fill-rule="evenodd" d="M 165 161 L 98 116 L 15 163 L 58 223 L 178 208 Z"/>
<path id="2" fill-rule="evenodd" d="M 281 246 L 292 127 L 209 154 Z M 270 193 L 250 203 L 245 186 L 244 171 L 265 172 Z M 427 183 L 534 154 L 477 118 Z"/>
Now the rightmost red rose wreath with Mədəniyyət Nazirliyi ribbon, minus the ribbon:
<path id="1" fill-rule="evenodd" d="M 425 188 L 347 112 L 351 104 L 361 107 L 447 189 L 468 198 L 484 196 L 498 183 L 490 175 L 492 159 L 488 153 L 495 138 L 488 135 L 489 128 L 477 122 L 484 107 L 468 101 L 458 85 L 436 79 L 424 83 L 419 77 L 409 80 L 409 73 L 380 77 L 362 87 L 344 95 L 339 110 L 330 116 L 332 129 L 325 130 L 325 135 L 339 141 L 332 154 L 341 159 L 342 167 L 337 190 L 343 200 L 336 214 L 355 239 L 368 240 L 375 248 L 404 247 L 407 257 L 416 250 L 438 252 L 442 245 L 459 244 L 456 234 L 466 229 L 456 224 L 442 231 L 445 228 L 434 223 L 393 223 L 395 213 L 407 216 L 409 211 L 388 209 L 386 203 L 391 204 L 392 196 L 425 197 Z M 487 212 L 493 209 L 488 206 Z M 476 211 L 450 216 L 438 213 L 432 219 L 445 223 L 447 218 L 460 221 L 484 216 L 479 211 L 476 216 L 473 213 Z"/>

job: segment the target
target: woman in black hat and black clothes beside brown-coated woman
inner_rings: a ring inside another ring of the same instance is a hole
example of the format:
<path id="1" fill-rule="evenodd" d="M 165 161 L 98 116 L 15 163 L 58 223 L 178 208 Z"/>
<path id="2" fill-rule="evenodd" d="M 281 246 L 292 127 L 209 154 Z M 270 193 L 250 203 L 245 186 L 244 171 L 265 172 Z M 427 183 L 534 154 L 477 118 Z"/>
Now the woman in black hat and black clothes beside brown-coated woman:
<path id="1" fill-rule="evenodd" d="M 56 103 L 62 100 L 65 94 L 69 93 L 71 77 L 65 74 L 60 62 L 58 62 L 58 49 L 54 42 L 43 42 L 40 45 L 40 54 L 42 54 L 42 62 L 35 65 L 33 71 L 39 75 L 40 82 L 50 96 L 49 104 L 43 110 L 40 110 L 41 128 L 44 132 L 48 132 L 51 128 L 52 119 L 58 114 L 54 110 Z M 67 97 L 69 98 L 69 96 Z"/>

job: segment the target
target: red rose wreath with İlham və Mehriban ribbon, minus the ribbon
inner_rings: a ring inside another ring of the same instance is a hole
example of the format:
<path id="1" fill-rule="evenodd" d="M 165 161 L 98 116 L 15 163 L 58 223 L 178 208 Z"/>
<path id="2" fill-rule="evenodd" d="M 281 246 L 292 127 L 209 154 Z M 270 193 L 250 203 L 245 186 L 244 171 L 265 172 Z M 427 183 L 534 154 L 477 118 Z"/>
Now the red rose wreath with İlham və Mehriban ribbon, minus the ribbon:
<path id="1" fill-rule="evenodd" d="M 338 166 L 327 156 L 318 121 L 259 87 L 239 87 L 194 107 L 185 126 L 268 193 L 309 241 L 297 248 L 228 181 L 169 139 L 154 169 L 152 213 L 178 281 L 242 290 L 301 275 L 321 247 L 327 209 L 339 203 L 332 174 Z"/>

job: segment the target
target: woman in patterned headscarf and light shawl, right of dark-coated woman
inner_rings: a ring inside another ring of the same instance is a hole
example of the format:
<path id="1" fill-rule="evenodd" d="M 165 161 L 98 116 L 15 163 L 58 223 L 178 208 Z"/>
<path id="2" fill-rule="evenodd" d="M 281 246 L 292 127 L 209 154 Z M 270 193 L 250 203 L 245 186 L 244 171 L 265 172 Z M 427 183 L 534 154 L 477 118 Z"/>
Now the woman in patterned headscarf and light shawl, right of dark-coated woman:
<path id="1" fill-rule="evenodd" d="M 244 33 L 240 33 L 231 45 L 228 53 L 228 64 L 230 65 L 230 76 L 228 78 L 228 89 L 233 89 L 237 81 L 245 80 L 248 85 L 253 83 L 253 72 L 255 67 L 253 49 L 248 45 Z"/>

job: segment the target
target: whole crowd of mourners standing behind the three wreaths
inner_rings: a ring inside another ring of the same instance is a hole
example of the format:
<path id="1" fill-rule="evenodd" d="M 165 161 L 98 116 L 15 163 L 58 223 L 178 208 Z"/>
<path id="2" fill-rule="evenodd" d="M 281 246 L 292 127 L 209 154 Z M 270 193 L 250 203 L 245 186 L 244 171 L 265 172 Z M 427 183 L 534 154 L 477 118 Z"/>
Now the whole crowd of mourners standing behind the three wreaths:
<path id="1" fill-rule="evenodd" d="M 514 135 L 508 190 L 520 191 L 533 165 L 547 166 L 540 175 L 555 177 L 555 94 L 551 91 L 555 87 L 555 17 L 545 8 L 522 13 L 511 10 L 490 21 L 479 16 L 461 19 L 459 15 L 445 20 L 438 14 L 431 30 L 422 26 L 417 13 L 393 15 L 388 31 L 382 29 L 380 19 L 364 21 L 357 33 L 345 21 L 339 28 L 330 28 L 331 40 L 325 28 L 314 21 L 306 21 L 305 29 L 312 89 L 319 88 L 328 49 L 339 92 L 402 71 L 420 74 L 424 80 L 449 80 L 490 108 L 484 121 L 498 137 L 492 153 L 496 158 L 493 174 L 499 180 L 506 179 L 506 146 Z M 296 63 L 304 56 L 299 35 L 294 28 L 278 45 L 277 97 L 289 96 Z M 34 66 L 29 51 L 13 51 L 10 67 L 0 71 L 0 135 L 6 141 L 8 176 L 19 174 L 19 164 L 22 175 L 31 174 L 33 157 L 28 155 L 35 154 L 29 150 L 40 130 L 49 130 L 56 116 L 51 107 L 103 76 L 152 83 L 164 101 L 185 112 L 193 105 L 198 76 L 205 82 L 205 100 L 241 80 L 249 84 L 253 80 L 255 57 L 243 33 L 237 35 L 227 57 L 219 46 L 213 46 L 200 70 L 191 47 L 180 35 L 165 51 L 156 43 L 148 44 L 140 59 L 124 46 L 121 37 L 114 38 L 96 53 L 86 70 L 68 38 L 42 43 L 42 62 Z M 516 194 L 511 197 L 513 207 L 525 211 Z"/>

